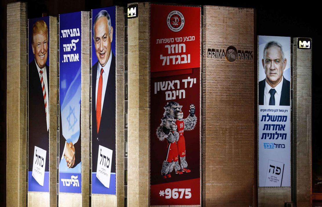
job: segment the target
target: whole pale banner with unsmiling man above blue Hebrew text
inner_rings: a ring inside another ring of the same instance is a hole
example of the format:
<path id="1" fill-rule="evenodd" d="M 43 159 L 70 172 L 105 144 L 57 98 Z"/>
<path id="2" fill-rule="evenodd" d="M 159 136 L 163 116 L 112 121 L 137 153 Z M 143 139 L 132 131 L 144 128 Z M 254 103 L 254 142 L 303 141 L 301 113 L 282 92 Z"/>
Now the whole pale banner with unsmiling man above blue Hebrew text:
<path id="1" fill-rule="evenodd" d="M 258 36 L 259 187 L 291 180 L 290 37 Z"/>

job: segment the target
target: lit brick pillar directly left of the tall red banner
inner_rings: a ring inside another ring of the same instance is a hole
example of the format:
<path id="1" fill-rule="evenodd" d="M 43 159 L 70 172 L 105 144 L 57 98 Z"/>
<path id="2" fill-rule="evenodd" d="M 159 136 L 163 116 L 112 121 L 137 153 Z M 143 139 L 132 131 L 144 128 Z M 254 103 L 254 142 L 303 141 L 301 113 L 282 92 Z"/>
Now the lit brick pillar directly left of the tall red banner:
<path id="1" fill-rule="evenodd" d="M 149 3 L 138 10 L 128 19 L 128 206 L 148 206 L 150 191 Z"/>

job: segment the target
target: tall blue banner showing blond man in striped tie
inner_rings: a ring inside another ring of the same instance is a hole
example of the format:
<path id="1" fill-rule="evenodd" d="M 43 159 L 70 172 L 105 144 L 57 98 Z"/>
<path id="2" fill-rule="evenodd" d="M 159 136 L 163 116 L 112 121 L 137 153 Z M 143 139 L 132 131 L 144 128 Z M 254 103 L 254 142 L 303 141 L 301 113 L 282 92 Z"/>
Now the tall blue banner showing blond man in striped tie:
<path id="1" fill-rule="evenodd" d="M 49 17 L 28 20 L 28 191 L 49 192 Z"/>

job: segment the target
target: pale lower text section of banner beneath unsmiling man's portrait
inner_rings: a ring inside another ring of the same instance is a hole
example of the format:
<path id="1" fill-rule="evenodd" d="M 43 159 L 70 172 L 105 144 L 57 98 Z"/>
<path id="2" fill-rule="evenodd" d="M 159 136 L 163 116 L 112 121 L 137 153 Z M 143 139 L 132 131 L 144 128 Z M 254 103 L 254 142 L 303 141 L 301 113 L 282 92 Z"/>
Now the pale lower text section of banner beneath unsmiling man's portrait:
<path id="1" fill-rule="evenodd" d="M 290 186 L 291 116 L 289 108 L 289 106 L 259 106 L 260 187 Z M 273 169 L 270 165 L 274 166 Z M 279 181 L 274 182 L 275 179 Z"/>

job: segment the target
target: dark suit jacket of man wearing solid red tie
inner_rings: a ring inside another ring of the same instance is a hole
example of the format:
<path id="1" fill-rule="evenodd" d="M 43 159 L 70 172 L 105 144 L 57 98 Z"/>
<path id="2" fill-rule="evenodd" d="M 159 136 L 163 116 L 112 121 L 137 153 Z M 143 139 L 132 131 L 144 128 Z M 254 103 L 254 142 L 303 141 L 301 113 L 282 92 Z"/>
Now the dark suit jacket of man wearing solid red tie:
<path id="1" fill-rule="evenodd" d="M 113 150 L 111 173 L 115 173 L 115 145 L 116 145 L 116 82 L 115 82 L 115 56 L 111 52 L 112 61 L 109 68 L 109 77 L 107 81 L 103 110 L 99 124 L 99 133 L 96 123 L 96 76 L 98 62 L 92 67 L 92 172 L 97 172 L 97 157 L 99 145 Z"/>

